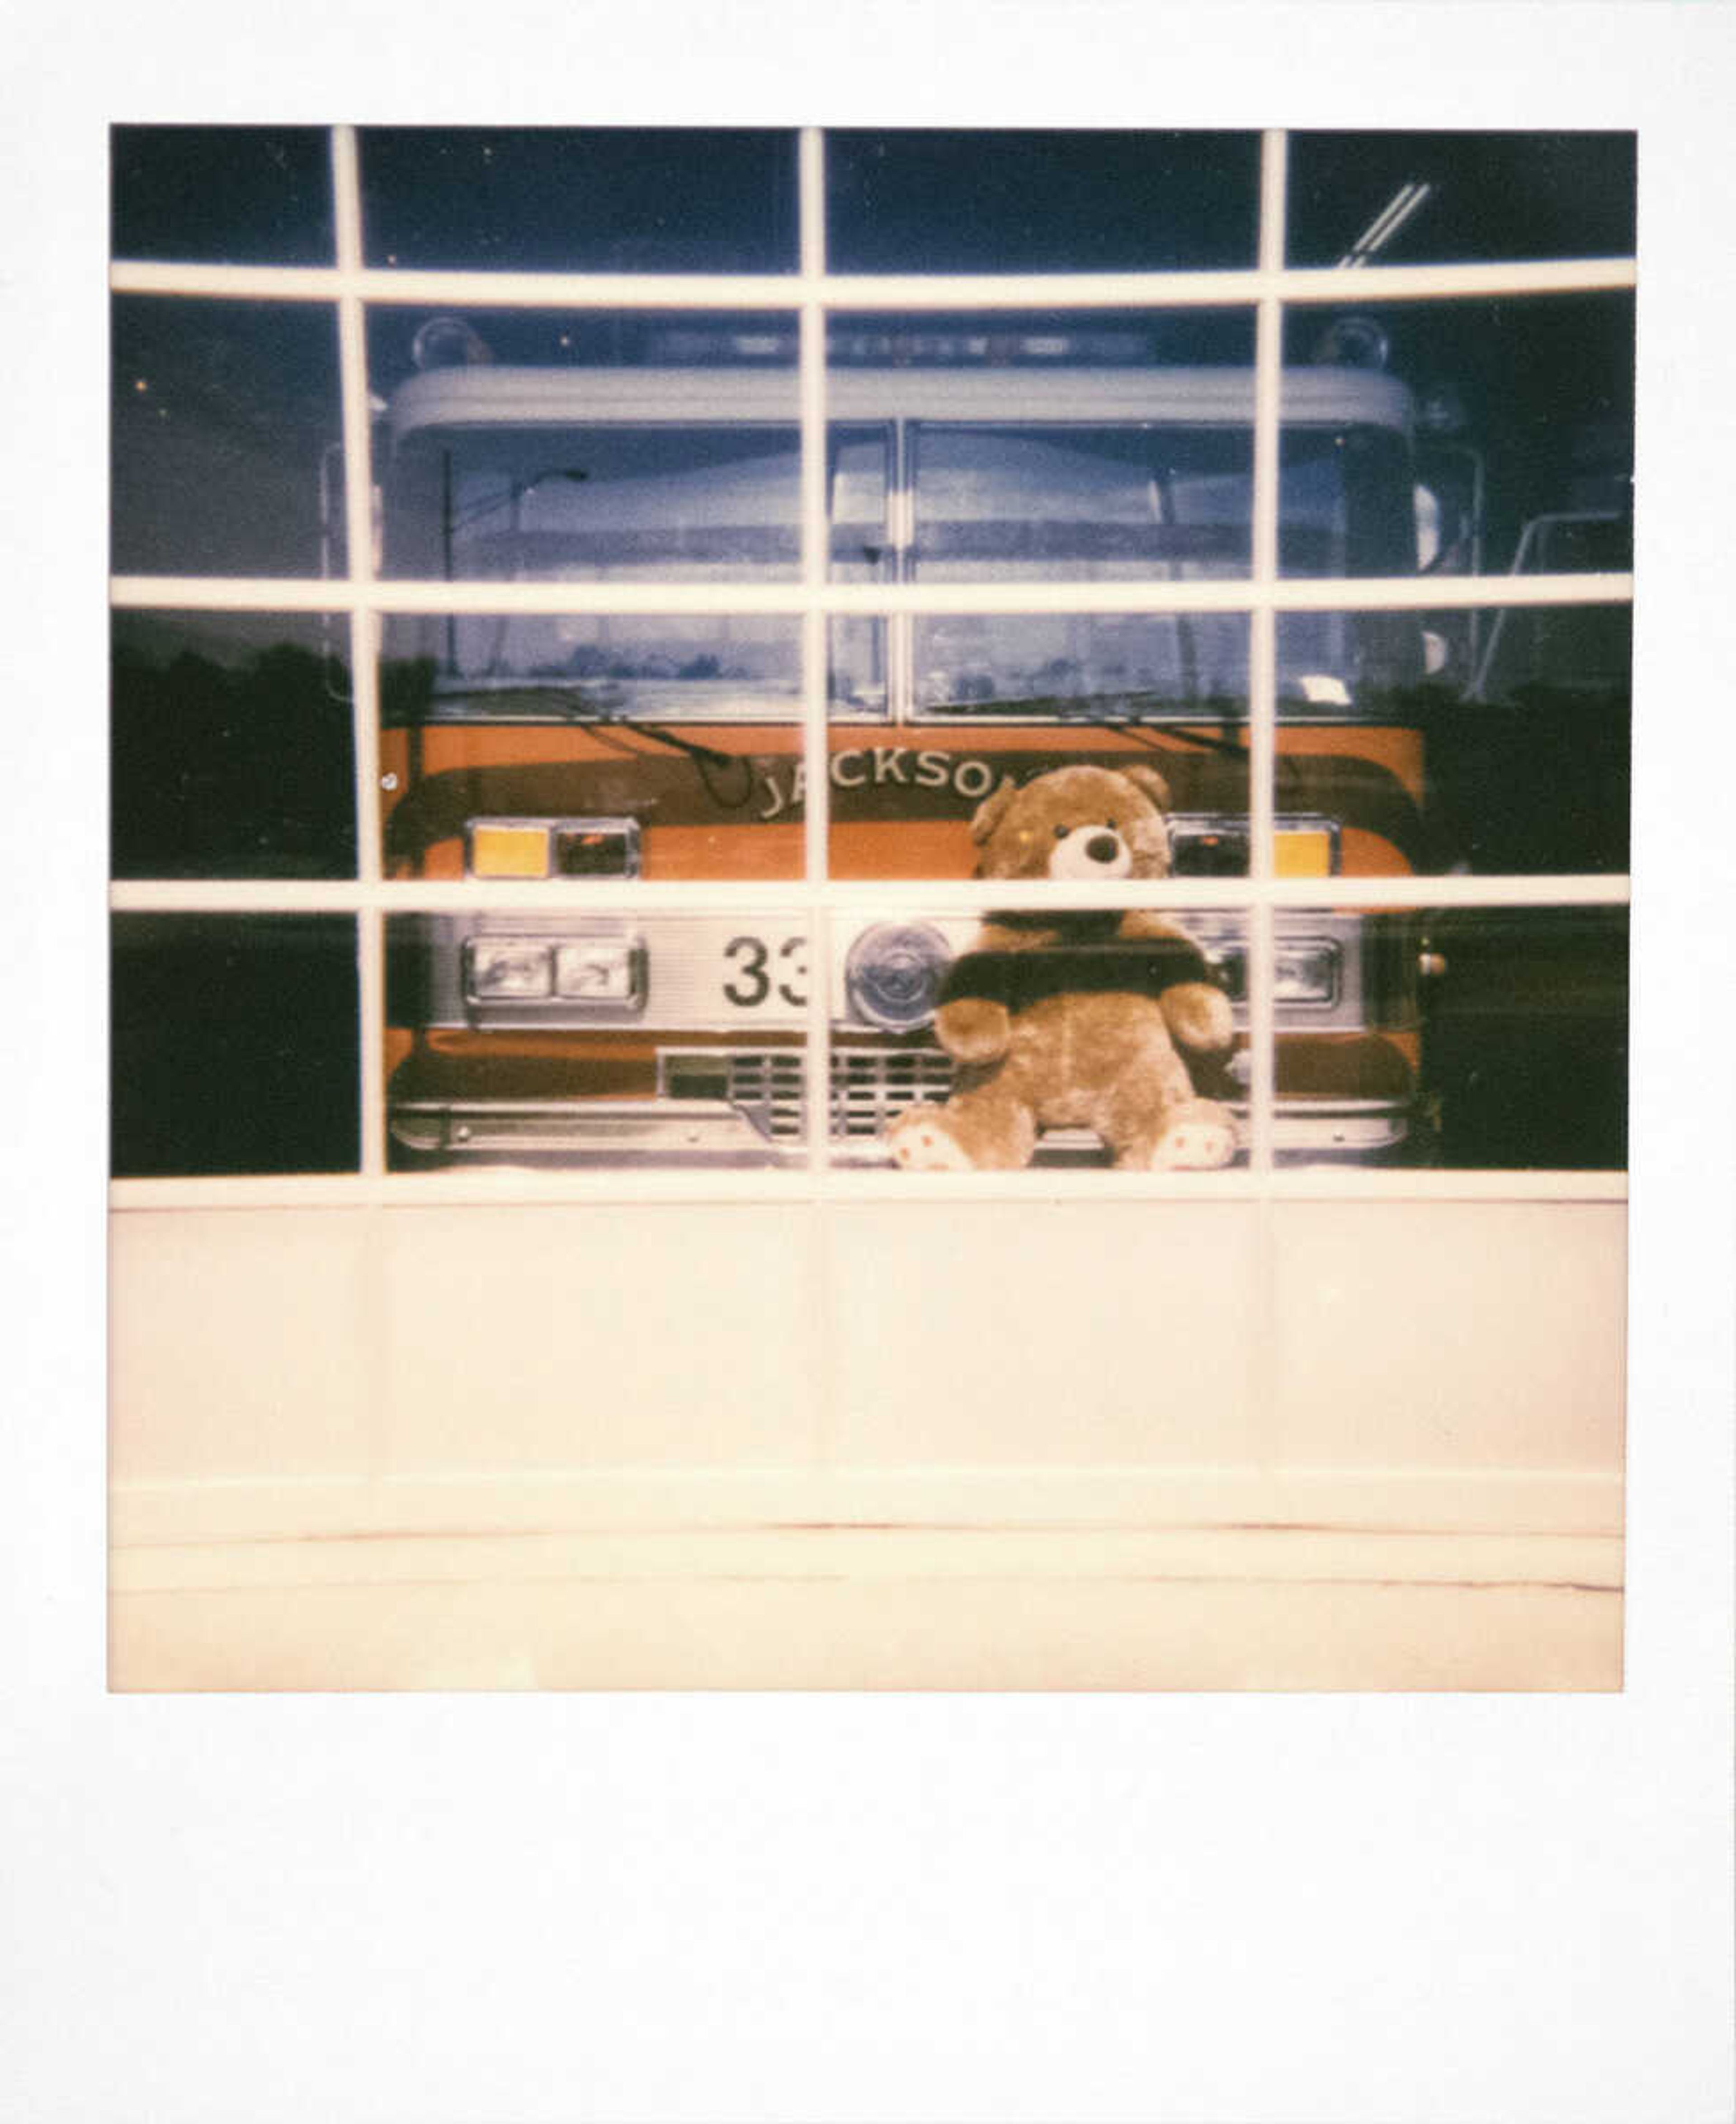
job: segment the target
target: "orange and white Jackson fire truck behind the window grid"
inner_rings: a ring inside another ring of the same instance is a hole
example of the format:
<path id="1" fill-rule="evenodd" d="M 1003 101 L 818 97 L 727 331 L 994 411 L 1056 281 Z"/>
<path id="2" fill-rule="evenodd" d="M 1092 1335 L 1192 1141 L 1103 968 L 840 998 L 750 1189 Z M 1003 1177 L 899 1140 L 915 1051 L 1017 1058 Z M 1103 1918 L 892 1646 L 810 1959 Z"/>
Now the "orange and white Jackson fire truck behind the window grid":
<path id="1" fill-rule="evenodd" d="M 681 344 L 511 365 L 456 319 L 416 350 L 376 440 L 380 573 L 586 584 L 590 610 L 488 614 L 469 595 L 386 622 L 386 875 L 550 884 L 545 907 L 390 920 L 397 1164 L 798 1160 L 815 981 L 832 1153 L 883 1160 L 887 1124 L 947 1094 L 932 1013 L 976 928 L 927 915 L 923 881 L 970 877 L 983 799 L 1059 765 L 1163 773 L 1174 873 L 1227 879 L 1225 911 L 1180 922 L 1244 1015 L 1246 612 L 1208 593 L 1205 610 L 1116 614 L 1097 588 L 1063 616 L 834 616 L 828 875 L 881 881 L 885 911 L 834 909 L 821 947 L 802 915 L 632 907 L 635 879 L 715 879 L 739 909 L 753 884 L 804 875 L 798 622 L 764 597 L 658 616 L 643 590 L 800 580 L 794 372 L 747 336 L 724 359 Z M 836 331 L 830 576 L 1246 580 L 1252 421 L 1252 370 L 1165 365 L 1127 336 Z M 1280 571 L 1462 565 L 1473 501 L 1449 476 L 1424 484 L 1422 450 L 1413 395 L 1379 365 L 1288 367 Z M 635 586 L 630 610 L 598 616 L 596 584 Z M 1411 612 L 1280 620 L 1275 869 L 1346 881 L 1333 909 L 1278 915 L 1280 1160 L 1430 1155 L 1428 939 L 1416 913 L 1358 909 L 1356 879 L 1447 864 L 1409 703 L 1481 650 Z M 1201 1090 L 1246 1121 L 1246 1049 Z M 1038 1155 L 1099 1151 L 1046 1136 Z"/>

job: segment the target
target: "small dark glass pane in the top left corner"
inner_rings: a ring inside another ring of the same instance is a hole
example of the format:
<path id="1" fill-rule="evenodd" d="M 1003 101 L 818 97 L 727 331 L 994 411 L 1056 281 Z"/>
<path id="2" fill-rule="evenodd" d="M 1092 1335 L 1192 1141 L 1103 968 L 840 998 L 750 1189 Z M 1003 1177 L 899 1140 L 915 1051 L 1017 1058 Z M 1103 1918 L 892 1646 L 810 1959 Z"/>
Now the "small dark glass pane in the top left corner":
<path id="1" fill-rule="evenodd" d="M 117 125 L 121 259 L 329 266 L 331 144 L 316 125 Z"/>

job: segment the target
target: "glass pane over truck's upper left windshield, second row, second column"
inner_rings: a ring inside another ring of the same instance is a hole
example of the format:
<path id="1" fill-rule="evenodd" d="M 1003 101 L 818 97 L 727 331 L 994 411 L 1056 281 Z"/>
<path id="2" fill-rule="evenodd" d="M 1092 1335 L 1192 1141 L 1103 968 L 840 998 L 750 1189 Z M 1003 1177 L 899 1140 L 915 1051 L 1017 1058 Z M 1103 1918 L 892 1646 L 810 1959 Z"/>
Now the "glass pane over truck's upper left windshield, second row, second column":
<path id="1" fill-rule="evenodd" d="M 794 580 L 792 359 L 787 319 L 378 312 L 382 571 Z"/>

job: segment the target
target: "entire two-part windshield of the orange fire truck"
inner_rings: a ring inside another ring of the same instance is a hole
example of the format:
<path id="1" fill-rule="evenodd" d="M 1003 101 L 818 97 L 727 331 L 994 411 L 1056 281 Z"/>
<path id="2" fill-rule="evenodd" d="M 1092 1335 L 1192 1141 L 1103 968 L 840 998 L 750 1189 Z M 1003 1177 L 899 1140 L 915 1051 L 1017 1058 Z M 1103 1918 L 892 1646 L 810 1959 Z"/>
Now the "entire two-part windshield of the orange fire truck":
<path id="1" fill-rule="evenodd" d="M 834 427 L 828 506 L 834 580 L 1237 580 L 1250 569 L 1252 433 L 1180 423 Z M 1280 516 L 1284 573 L 1413 569 L 1403 440 L 1375 427 L 1286 429 Z M 800 433 L 724 423 L 418 429 L 388 467 L 384 569 L 471 582 L 794 582 Z M 1348 705 L 1354 684 L 1392 682 L 1392 671 L 1367 669 L 1369 644 L 1388 637 L 1390 627 L 1343 618 L 1290 631 L 1301 663 L 1280 682 L 1299 699 Z M 908 644 L 906 663 L 881 622 L 834 622 L 836 705 L 1138 718 L 1235 714 L 1246 701 L 1248 622 L 1237 612 L 919 616 Z M 770 616 L 444 616 L 395 622 L 388 656 L 422 673 L 422 714 L 800 714 L 798 629 Z"/>

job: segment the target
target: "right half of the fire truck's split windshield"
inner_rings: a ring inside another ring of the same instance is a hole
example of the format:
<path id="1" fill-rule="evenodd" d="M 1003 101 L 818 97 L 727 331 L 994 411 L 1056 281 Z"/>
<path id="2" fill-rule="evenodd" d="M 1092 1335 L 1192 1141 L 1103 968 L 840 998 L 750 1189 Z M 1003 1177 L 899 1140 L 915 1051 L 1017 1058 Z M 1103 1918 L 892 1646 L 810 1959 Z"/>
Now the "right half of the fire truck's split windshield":
<path id="1" fill-rule="evenodd" d="M 921 582 L 1205 582 L 1250 569 L 1246 427 L 927 427 L 915 446 Z M 1416 567 L 1405 448 L 1371 427 L 1286 429 L 1280 569 Z M 1303 614 L 1284 631 L 1280 692 L 1320 712 L 1413 678 L 1416 631 Z M 913 712 L 1150 720 L 1246 714 L 1239 612 L 919 616 Z"/>

